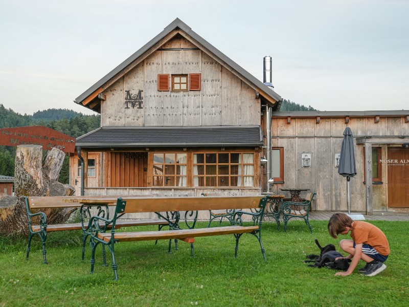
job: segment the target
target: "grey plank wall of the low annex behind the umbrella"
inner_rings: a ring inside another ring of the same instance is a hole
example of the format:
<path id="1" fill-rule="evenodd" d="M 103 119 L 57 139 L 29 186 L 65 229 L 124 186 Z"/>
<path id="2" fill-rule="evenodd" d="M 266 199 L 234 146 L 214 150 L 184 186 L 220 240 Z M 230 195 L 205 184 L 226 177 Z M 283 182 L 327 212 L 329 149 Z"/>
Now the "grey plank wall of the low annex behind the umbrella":
<path id="1" fill-rule="evenodd" d="M 280 188 L 308 188 L 316 191 L 314 210 L 346 211 L 347 181 L 338 174 L 335 167 L 335 154 L 340 153 L 343 133 L 349 126 L 353 136 L 400 136 L 409 133 L 409 124 L 401 117 L 381 117 L 374 122 L 373 117 L 322 118 L 273 118 L 271 122 L 272 146 L 284 148 L 284 184 L 275 184 L 274 191 L 283 193 Z M 387 159 L 387 148 L 393 144 L 375 144 L 381 147 L 382 159 Z M 365 211 L 366 189 L 363 184 L 365 157 L 363 144 L 355 144 L 357 175 L 350 181 L 350 204 L 352 211 Z M 311 167 L 301 167 L 302 153 L 311 153 Z M 387 208 L 388 177 L 387 167 L 382 167 L 383 184 L 373 185 L 373 209 Z M 301 196 L 304 196 L 304 192 Z M 289 196 L 289 194 L 287 194 Z"/>

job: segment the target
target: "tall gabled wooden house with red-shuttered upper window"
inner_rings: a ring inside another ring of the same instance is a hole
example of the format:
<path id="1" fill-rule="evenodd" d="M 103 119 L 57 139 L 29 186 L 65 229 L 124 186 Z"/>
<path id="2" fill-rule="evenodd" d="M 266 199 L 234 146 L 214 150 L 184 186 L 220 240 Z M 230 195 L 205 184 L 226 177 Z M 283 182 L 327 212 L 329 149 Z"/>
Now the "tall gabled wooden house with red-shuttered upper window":
<path id="1" fill-rule="evenodd" d="M 78 195 L 260 194 L 262 117 L 281 101 L 176 18 L 75 100 L 101 127 L 77 139 L 70 183 Z"/>

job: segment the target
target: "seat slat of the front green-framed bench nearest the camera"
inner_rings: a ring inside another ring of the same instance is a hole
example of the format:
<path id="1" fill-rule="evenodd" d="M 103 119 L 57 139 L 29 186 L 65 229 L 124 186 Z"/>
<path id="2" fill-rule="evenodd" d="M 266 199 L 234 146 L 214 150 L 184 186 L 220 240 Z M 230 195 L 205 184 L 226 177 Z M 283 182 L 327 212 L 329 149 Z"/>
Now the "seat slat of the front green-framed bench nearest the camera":
<path id="1" fill-rule="evenodd" d="M 213 228 L 165 230 L 165 231 L 139 231 L 139 232 L 116 232 L 115 239 L 123 242 L 127 241 L 146 241 L 160 239 L 183 239 L 189 237 L 249 233 L 259 229 L 258 226 L 224 226 Z M 109 242 L 110 233 L 99 233 L 98 237 L 105 242 Z"/>

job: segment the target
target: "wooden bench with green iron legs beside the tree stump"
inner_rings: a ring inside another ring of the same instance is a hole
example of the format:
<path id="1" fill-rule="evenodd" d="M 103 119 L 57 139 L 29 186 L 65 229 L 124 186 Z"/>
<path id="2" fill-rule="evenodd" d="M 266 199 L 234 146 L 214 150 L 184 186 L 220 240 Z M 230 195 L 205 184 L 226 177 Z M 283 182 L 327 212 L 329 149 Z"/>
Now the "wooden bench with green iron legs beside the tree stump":
<path id="1" fill-rule="evenodd" d="M 123 196 L 126 199 L 127 196 Z M 133 196 L 135 198 L 137 196 Z M 78 202 L 78 200 L 82 199 L 103 199 L 102 202 L 98 203 L 97 201 L 94 204 L 89 204 L 84 206 L 82 203 Z M 81 198 L 72 198 L 67 200 L 67 196 L 25 196 L 25 202 L 27 207 L 27 215 L 28 215 L 28 226 L 29 226 L 29 233 L 28 233 L 28 245 L 27 245 L 27 256 L 26 259 L 28 260 L 30 250 L 31 250 L 31 240 L 33 236 L 38 235 L 41 239 L 42 243 L 42 254 L 43 254 L 43 263 L 47 264 L 47 251 L 46 251 L 46 240 L 47 240 L 47 233 L 52 231 L 65 231 L 65 230 L 82 230 L 82 260 L 84 260 L 85 254 L 85 243 L 86 239 L 89 236 L 89 232 L 87 231 L 88 225 L 86 224 L 87 219 L 92 216 L 92 212 L 90 209 L 92 207 L 99 208 L 98 214 L 101 216 L 105 216 L 109 218 L 109 209 L 108 206 L 115 206 L 117 202 L 118 196 L 115 198 L 107 198 L 107 196 L 81 196 Z M 76 200 L 76 201 L 74 201 Z M 44 209 L 44 208 L 80 208 L 80 221 L 81 223 L 67 223 L 67 224 L 55 224 L 55 225 L 48 225 L 47 224 L 47 216 L 43 212 L 32 213 L 32 210 Z M 38 216 L 39 218 L 39 225 L 33 225 L 33 217 Z M 85 223 L 85 224 L 84 224 Z M 168 221 L 161 220 L 161 219 L 149 219 L 149 220 L 118 220 L 115 228 L 121 227 L 128 227 L 128 226 L 144 226 L 144 225 L 158 225 L 158 230 L 161 230 L 162 227 L 169 225 Z M 112 224 L 105 225 L 101 223 L 101 230 L 106 231 L 111 229 Z M 176 246 L 177 248 L 177 246 Z M 105 248 L 103 249 L 103 261 L 105 264 Z"/>

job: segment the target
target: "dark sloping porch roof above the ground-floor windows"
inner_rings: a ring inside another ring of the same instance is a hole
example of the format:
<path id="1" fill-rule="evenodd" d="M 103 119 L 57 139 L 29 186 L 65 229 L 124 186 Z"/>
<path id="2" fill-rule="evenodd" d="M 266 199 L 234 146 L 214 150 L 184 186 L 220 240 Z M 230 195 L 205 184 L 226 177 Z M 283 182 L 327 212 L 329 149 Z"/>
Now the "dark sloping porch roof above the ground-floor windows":
<path id="1" fill-rule="evenodd" d="M 260 126 L 105 126 L 77 139 L 82 148 L 263 146 Z"/>

